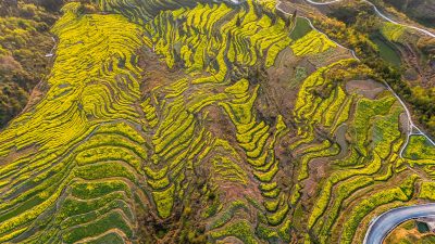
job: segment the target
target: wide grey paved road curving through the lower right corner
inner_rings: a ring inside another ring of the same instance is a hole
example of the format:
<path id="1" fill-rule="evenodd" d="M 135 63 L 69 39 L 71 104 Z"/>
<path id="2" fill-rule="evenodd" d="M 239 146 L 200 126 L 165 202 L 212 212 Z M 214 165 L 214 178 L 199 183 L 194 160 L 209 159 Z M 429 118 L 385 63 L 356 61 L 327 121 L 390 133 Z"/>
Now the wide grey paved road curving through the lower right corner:
<path id="1" fill-rule="evenodd" d="M 388 233 L 400 223 L 427 216 L 435 216 L 435 204 L 393 208 L 372 220 L 363 244 L 382 244 Z"/>

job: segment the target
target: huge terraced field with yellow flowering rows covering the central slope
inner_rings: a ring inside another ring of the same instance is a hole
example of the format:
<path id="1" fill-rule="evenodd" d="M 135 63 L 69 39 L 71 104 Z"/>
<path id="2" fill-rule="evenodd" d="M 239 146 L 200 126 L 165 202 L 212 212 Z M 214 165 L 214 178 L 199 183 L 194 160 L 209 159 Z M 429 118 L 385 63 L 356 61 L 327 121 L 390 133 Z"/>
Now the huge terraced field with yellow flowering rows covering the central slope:
<path id="1" fill-rule="evenodd" d="M 401 104 L 276 2 L 98 4 L 63 8 L 48 92 L 0 133 L 0 242 L 360 243 L 435 201 Z"/>

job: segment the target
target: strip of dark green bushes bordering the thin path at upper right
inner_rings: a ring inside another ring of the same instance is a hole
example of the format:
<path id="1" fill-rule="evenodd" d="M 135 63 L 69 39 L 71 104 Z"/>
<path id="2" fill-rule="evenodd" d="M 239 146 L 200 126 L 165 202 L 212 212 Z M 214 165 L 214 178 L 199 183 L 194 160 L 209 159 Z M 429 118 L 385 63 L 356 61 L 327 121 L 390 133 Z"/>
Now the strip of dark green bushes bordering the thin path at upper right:
<path id="1" fill-rule="evenodd" d="M 407 82 L 402 78 L 400 68 L 395 67 L 382 60 L 376 51 L 376 46 L 370 40 L 369 35 L 377 31 L 373 29 L 376 25 L 373 18 L 366 11 L 361 11 L 357 16 L 358 21 L 353 25 L 346 25 L 345 23 L 334 18 L 320 18 L 314 16 L 314 25 L 320 29 L 325 30 L 326 35 L 335 40 L 338 40 L 344 46 L 356 51 L 357 55 L 361 59 L 362 63 L 373 69 L 372 76 L 377 80 L 387 82 L 395 92 L 399 94 L 409 105 L 410 108 L 418 115 L 419 121 L 431 133 L 435 133 L 435 118 L 433 112 L 435 111 L 434 101 L 428 101 L 426 98 L 435 98 L 432 89 L 415 89 L 414 85 Z M 403 33 L 403 27 L 394 24 L 383 24 L 381 31 L 386 38 L 393 41 L 400 41 Z M 424 40 L 419 41 L 425 42 Z M 425 43 L 420 46 L 425 50 Z"/>

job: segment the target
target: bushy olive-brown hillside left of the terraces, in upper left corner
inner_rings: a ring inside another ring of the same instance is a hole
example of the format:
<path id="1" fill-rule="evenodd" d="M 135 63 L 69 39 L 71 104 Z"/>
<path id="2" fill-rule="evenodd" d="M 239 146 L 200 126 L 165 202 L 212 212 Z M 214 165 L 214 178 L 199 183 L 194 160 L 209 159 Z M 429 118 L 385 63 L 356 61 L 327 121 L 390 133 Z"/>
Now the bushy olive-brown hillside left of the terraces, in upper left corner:
<path id="1" fill-rule="evenodd" d="M 0 128 L 23 111 L 32 90 L 49 73 L 46 54 L 54 44 L 50 26 L 58 15 L 55 5 L 48 0 L 0 3 Z"/>

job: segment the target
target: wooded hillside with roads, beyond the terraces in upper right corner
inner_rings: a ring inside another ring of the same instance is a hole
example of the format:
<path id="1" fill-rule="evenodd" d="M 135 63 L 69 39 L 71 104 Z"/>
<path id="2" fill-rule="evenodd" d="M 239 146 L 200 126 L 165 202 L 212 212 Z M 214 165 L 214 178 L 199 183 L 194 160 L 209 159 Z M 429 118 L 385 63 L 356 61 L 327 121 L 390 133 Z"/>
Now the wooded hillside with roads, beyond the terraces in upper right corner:
<path id="1" fill-rule="evenodd" d="M 373 2 L 291 0 L 281 8 L 313 20 L 330 38 L 355 50 L 375 79 L 386 81 L 407 103 L 415 123 L 435 137 L 435 31 Z"/>

